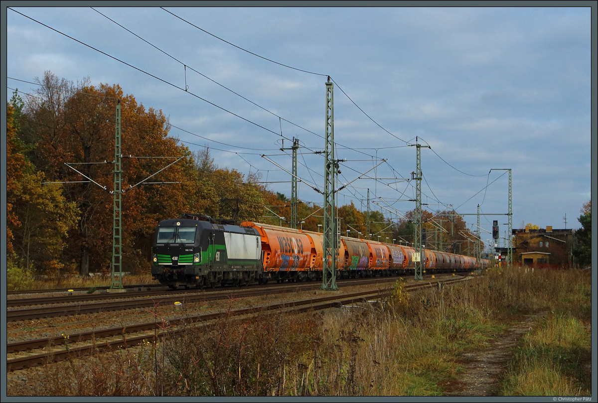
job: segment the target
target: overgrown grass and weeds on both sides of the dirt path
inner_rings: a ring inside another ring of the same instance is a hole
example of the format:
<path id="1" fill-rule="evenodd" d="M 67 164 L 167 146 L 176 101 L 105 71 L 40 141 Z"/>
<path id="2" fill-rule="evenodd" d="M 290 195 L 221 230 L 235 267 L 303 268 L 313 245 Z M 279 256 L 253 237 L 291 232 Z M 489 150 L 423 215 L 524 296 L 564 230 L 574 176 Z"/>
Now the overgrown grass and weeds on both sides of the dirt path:
<path id="1" fill-rule="evenodd" d="M 440 396 L 462 370 L 460 353 L 538 312 L 547 315 L 515 352 L 502 393 L 587 395 L 590 276 L 525 268 L 415 295 L 399 280 L 386 300 L 337 312 L 225 317 L 209 331 L 188 325 L 181 336 L 164 324 L 167 337 L 158 343 L 54 363 L 32 389 L 8 393 Z"/>

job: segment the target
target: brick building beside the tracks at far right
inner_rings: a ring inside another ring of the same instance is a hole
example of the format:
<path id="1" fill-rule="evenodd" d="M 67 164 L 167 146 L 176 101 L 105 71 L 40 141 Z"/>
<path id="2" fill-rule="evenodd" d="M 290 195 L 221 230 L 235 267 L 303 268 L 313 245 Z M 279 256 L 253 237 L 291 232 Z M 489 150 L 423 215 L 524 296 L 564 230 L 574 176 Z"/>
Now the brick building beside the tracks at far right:
<path id="1" fill-rule="evenodd" d="M 512 230 L 513 262 L 529 266 L 563 266 L 570 264 L 573 230 L 546 227 L 533 230 Z"/>

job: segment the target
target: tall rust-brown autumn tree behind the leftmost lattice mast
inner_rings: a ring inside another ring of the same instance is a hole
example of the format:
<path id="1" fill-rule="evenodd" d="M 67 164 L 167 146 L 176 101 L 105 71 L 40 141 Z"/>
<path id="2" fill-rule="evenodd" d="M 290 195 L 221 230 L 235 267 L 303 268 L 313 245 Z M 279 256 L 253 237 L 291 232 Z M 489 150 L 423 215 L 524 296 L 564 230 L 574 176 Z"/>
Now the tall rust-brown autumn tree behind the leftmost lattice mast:
<path id="1" fill-rule="evenodd" d="M 67 182 L 68 200 L 77 205 L 78 228 L 70 233 L 68 250 L 82 275 L 110 268 L 110 192 L 114 187 L 115 109 L 120 100 L 123 267 L 147 270 L 157 221 L 177 216 L 199 202 L 190 152 L 168 136 L 169 124 L 161 111 L 146 110 L 116 84 L 96 88 L 84 79 L 75 86 L 50 72 L 37 81 L 41 88 L 28 98 L 26 107 L 29 120 L 37 124 L 35 160 L 48 178 Z M 152 176 L 154 184 L 140 184 L 179 157 L 185 158 Z"/>

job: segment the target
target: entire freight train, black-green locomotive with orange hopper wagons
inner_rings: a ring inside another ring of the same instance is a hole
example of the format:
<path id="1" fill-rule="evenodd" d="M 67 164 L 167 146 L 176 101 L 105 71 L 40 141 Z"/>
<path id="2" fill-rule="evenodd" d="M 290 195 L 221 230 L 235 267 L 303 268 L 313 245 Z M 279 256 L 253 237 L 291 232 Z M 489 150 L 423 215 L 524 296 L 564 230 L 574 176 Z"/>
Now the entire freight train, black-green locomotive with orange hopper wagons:
<path id="1" fill-rule="evenodd" d="M 322 280 L 323 244 L 321 233 L 184 213 L 155 228 L 151 273 L 170 288 L 317 281 Z M 414 252 L 408 246 L 341 236 L 337 277 L 413 273 Z M 422 267 L 428 273 L 477 268 L 469 256 L 423 252 Z M 480 261 L 480 268 L 487 265 L 486 259 Z"/>

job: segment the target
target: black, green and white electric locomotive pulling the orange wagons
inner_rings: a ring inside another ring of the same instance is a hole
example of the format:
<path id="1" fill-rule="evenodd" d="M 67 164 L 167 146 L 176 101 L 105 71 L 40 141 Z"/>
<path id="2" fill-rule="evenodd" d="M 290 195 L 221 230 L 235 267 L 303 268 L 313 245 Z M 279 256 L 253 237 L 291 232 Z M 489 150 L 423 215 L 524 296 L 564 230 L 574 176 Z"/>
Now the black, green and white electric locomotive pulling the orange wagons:
<path id="1" fill-rule="evenodd" d="M 154 231 L 151 273 L 170 288 L 261 282 L 261 260 L 257 230 L 230 220 L 184 213 Z"/>

